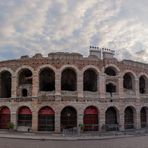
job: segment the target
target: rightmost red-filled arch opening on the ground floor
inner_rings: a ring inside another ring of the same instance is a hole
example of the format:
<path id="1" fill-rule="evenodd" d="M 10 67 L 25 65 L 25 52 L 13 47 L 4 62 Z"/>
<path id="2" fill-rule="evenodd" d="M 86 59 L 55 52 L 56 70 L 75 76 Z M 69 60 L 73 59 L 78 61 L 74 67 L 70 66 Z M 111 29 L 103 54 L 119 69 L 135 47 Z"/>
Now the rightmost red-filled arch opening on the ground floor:
<path id="1" fill-rule="evenodd" d="M 99 129 L 98 110 L 96 107 L 89 106 L 85 109 L 83 123 L 84 131 L 97 131 Z"/>

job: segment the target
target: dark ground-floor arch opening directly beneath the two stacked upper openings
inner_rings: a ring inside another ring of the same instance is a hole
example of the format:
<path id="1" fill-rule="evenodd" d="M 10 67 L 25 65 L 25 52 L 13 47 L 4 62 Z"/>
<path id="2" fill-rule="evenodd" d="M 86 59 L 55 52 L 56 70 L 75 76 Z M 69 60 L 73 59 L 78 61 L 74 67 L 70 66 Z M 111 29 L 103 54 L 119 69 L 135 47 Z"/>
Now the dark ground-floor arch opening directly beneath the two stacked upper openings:
<path id="1" fill-rule="evenodd" d="M 105 124 L 107 131 L 118 130 L 117 111 L 114 107 L 109 107 L 105 113 Z"/>

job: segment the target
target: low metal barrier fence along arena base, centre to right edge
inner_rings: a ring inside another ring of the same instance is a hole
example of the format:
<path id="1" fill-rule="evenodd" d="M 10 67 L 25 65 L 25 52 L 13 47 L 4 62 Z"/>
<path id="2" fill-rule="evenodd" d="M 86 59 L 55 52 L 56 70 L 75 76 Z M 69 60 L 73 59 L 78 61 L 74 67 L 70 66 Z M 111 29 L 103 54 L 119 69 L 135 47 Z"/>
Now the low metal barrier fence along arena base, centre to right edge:
<path id="1" fill-rule="evenodd" d="M 85 125 L 84 125 L 85 126 Z M 88 125 L 87 125 L 88 126 Z M 124 125 L 128 127 L 124 130 L 120 130 L 119 124 L 105 124 L 102 129 L 97 131 L 85 131 L 82 127 L 73 127 L 68 129 L 62 129 L 63 136 L 80 136 L 80 135 L 97 135 L 97 136 L 111 136 L 111 135 L 138 135 L 138 134 L 148 134 L 148 125 L 145 128 L 135 129 L 133 124 Z M 96 124 L 94 125 L 96 127 Z M 99 127 L 99 125 L 98 125 Z"/>

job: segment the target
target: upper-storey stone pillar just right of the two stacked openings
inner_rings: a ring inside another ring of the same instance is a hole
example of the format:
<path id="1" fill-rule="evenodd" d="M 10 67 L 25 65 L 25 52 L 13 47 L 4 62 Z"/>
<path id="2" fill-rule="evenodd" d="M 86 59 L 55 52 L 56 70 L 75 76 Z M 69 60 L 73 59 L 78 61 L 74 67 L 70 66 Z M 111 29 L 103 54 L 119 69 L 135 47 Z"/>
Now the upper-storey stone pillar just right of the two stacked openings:
<path id="1" fill-rule="evenodd" d="M 124 98 L 123 77 L 118 78 L 118 95 L 119 98 Z"/>

